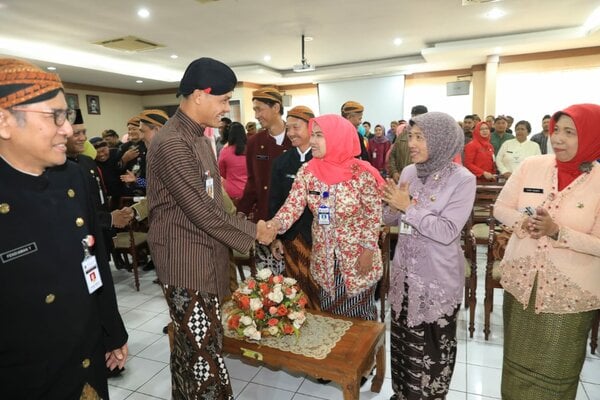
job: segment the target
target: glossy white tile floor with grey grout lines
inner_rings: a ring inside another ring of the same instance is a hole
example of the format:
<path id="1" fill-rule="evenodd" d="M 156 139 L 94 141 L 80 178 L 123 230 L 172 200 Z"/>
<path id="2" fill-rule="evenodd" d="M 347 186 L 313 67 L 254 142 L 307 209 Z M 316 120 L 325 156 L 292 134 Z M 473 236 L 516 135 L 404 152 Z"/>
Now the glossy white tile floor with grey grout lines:
<path id="1" fill-rule="evenodd" d="M 483 250 L 483 249 L 482 249 Z M 484 253 L 485 250 L 479 253 Z M 481 255 L 480 255 L 481 257 Z M 485 267 L 483 258 L 479 268 Z M 482 275 L 482 274 L 480 274 Z M 109 380 L 113 400 L 170 399 L 169 344 L 162 328 L 168 323 L 167 306 L 158 285 L 153 284 L 153 271 L 141 271 L 140 292 L 133 287 L 132 274 L 113 273 L 119 308 L 129 331 L 130 356 L 126 370 Z M 467 311 L 461 309 L 458 326 L 458 353 L 448 400 L 500 399 L 502 368 L 502 293 L 494 295 L 492 333 L 483 337 L 484 281 L 480 276 L 477 292 L 475 336 L 468 338 Z M 388 322 L 389 330 L 389 322 Z M 389 339 L 389 337 L 387 338 Z M 386 340 L 387 340 L 386 339 Z M 389 352 L 389 340 L 387 341 Z M 589 348 L 588 348 L 589 349 Z M 389 399 L 392 395 L 389 355 L 386 379 L 381 393 L 369 391 L 370 383 L 361 388 L 361 399 Z M 275 371 L 267 367 L 244 364 L 237 358 L 226 358 L 232 388 L 239 400 L 341 400 L 342 391 L 334 383 L 321 385 L 304 375 Z M 588 357 L 581 374 L 577 400 L 600 400 L 600 356 Z"/>

